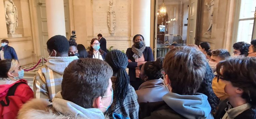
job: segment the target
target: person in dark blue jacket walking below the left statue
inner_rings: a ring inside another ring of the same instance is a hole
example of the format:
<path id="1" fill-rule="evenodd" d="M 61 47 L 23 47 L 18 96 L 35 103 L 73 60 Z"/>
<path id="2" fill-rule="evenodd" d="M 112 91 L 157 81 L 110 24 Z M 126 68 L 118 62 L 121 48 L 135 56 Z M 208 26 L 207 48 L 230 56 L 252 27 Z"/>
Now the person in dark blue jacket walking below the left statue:
<path id="1" fill-rule="evenodd" d="M 4 59 L 15 59 L 18 60 L 17 54 L 13 47 L 8 46 L 9 41 L 6 39 L 1 40 L 0 47 L 0 60 Z"/>

